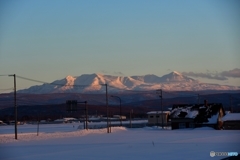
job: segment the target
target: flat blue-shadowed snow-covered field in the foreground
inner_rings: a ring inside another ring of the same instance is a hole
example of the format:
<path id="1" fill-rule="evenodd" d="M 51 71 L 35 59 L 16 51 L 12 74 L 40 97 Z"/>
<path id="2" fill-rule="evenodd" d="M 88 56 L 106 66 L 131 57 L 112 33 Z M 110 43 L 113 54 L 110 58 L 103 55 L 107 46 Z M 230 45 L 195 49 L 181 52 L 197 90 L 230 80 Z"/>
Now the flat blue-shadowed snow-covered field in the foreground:
<path id="1" fill-rule="evenodd" d="M 0 126 L 1 160 L 221 159 L 210 151 L 240 153 L 240 131 L 157 127 L 78 129 L 79 123 Z M 226 156 L 225 156 L 226 157 Z"/>

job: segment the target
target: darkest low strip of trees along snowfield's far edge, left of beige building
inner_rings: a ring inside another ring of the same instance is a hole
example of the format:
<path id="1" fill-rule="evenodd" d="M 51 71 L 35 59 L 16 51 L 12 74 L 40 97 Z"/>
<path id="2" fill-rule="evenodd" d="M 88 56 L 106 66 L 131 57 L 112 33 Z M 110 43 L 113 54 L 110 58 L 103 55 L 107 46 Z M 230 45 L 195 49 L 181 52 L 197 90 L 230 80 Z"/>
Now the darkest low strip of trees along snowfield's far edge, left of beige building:
<path id="1" fill-rule="evenodd" d="M 106 106 L 104 105 L 88 105 L 89 116 L 107 116 Z M 23 105 L 18 106 L 19 121 L 37 121 L 37 120 L 55 120 L 64 117 L 83 118 L 85 117 L 84 104 L 78 104 L 77 109 L 69 110 L 66 104 L 58 105 Z M 130 112 L 134 118 L 147 118 L 147 112 L 152 111 L 149 107 L 132 107 L 123 106 L 122 115 L 130 117 Z M 109 117 L 120 115 L 119 106 L 109 106 Z M 14 120 L 14 108 L 5 108 L 0 112 L 0 120 Z"/>

